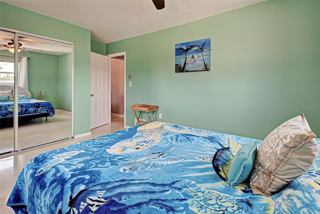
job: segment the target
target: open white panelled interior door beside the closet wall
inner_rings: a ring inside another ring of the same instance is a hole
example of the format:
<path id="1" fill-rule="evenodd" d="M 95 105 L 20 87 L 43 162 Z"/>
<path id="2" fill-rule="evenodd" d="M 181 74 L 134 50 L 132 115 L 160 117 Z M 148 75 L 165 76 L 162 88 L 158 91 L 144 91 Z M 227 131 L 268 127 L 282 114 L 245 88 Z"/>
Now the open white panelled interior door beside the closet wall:
<path id="1" fill-rule="evenodd" d="M 109 123 L 108 56 L 91 52 L 91 122 L 90 128 Z"/>

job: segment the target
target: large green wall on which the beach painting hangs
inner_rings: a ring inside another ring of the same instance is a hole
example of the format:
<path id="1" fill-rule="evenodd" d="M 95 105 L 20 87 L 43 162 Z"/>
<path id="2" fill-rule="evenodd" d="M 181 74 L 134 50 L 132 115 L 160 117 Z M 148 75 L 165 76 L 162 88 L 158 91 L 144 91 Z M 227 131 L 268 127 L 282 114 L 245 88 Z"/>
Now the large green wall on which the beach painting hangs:
<path id="1" fill-rule="evenodd" d="M 211 71 L 174 72 L 174 45 L 211 38 Z M 304 112 L 320 137 L 320 1 L 265 1 L 106 45 L 126 51 L 130 105 L 167 122 L 263 139 Z M 144 116 L 145 118 L 145 116 Z"/>

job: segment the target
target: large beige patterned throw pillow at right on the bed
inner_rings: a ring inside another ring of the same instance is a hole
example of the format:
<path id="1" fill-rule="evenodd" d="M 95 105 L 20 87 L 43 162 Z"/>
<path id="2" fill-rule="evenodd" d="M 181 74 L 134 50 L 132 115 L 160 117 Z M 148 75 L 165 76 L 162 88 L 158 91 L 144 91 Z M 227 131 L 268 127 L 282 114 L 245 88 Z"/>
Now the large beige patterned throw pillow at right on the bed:
<path id="1" fill-rule="evenodd" d="M 313 164 L 319 147 L 303 113 L 276 127 L 261 143 L 250 177 L 253 194 L 271 195 Z"/>

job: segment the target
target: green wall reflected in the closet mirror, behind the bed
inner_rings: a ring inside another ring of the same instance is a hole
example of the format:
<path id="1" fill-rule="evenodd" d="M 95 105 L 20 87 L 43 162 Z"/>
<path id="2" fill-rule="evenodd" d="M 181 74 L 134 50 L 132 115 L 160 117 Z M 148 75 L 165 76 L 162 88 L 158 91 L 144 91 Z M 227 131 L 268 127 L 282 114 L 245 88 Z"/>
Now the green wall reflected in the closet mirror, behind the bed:
<path id="1" fill-rule="evenodd" d="M 28 56 L 28 82 L 32 97 L 37 98 L 41 90 L 42 98 L 50 101 L 54 109 L 71 111 L 71 53 L 59 56 L 32 52 Z"/>

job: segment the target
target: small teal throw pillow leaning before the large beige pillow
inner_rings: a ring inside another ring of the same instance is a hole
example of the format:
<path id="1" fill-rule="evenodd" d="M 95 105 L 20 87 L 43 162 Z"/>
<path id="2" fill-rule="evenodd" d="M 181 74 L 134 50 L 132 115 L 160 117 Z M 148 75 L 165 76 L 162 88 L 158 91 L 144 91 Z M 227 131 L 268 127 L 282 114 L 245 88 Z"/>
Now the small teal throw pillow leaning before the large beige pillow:
<path id="1" fill-rule="evenodd" d="M 244 182 L 250 175 L 257 152 L 257 141 L 245 143 L 234 155 L 225 186 L 232 187 Z"/>

